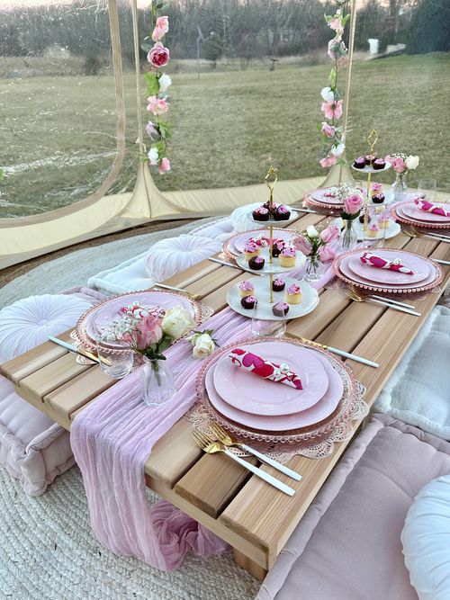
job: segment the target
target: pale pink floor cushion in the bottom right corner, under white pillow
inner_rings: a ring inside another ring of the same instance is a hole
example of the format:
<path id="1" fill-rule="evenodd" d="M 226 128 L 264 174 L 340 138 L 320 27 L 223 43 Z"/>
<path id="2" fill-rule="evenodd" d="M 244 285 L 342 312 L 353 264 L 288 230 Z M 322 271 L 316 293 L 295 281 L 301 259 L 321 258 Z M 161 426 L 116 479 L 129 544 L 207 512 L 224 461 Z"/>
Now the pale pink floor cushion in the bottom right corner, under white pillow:
<path id="1" fill-rule="evenodd" d="M 450 443 L 375 415 L 303 516 L 257 600 L 417 600 L 401 530 L 419 490 L 449 472 Z"/>

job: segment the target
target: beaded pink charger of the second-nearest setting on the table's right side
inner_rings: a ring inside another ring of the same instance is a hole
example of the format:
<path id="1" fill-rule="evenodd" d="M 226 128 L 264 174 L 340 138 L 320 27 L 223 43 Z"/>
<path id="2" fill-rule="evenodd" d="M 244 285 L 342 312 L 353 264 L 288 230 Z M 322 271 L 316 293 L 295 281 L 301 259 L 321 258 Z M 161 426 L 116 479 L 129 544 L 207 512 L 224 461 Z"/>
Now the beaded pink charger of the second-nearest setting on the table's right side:
<path id="1" fill-rule="evenodd" d="M 392 251 L 397 255 L 400 254 L 400 251 Z M 377 251 L 378 254 L 378 251 Z M 349 252 L 345 255 L 340 255 L 335 259 L 333 263 L 333 270 L 336 276 L 344 282 L 347 282 L 351 285 L 356 285 L 359 288 L 363 288 L 368 291 L 385 291 L 388 293 L 417 293 L 419 291 L 429 291 L 436 288 L 440 282 L 442 282 L 444 278 L 444 272 L 440 268 L 438 264 L 433 263 L 429 258 L 425 258 L 420 256 L 421 260 L 425 261 L 429 264 L 430 273 L 428 277 L 426 277 L 421 282 L 416 283 L 397 283 L 397 284 L 389 284 L 389 283 L 377 283 L 374 282 L 373 279 L 368 279 L 367 277 L 371 277 L 371 274 L 366 275 L 365 277 L 361 277 L 352 271 L 349 267 L 349 262 L 355 256 L 360 256 L 361 250 L 356 250 L 354 252 Z M 407 252 L 406 250 L 401 250 L 401 255 L 410 255 L 417 256 L 412 252 Z M 376 270 L 376 267 L 368 267 L 370 269 Z M 380 269 L 380 271 L 385 271 L 385 269 Z M 372 273 L 372 271 L 370 272 Z"/>

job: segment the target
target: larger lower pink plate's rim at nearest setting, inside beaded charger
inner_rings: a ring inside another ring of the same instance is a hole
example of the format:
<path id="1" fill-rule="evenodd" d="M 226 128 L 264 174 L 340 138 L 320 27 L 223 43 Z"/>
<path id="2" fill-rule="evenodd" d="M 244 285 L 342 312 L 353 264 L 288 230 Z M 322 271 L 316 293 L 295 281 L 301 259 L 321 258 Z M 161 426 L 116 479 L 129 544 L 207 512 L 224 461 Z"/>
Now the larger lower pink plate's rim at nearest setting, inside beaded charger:
<path id="1" fill-rule="evenodd" d="M 232 407 L 225 400 L 220 398 L 214 387 L 214 369 L 217 363 L 212 363 L 211 368 L 206 373 L 205 387 L 210 399 L 211 405 L 215 407 L 223 416 L 235 421 L 239 425 L 259 429 L 261 431 L 289 431 L 300 427 L 308 427 L 320 423 L 323 419 L 330 416 L 338 407 L 339 400 L 344 393 L 344 384 L 339 374 L 329 361 L 318 355 L 329 379 L 329 387 L 319 402 L 312 407 L 302 410 L 302 412 L 293 415 L 263 416 L 252 415 L 245 410 L 239 410 Z M 278 385 L 278 384 L 275 384 Z"/>

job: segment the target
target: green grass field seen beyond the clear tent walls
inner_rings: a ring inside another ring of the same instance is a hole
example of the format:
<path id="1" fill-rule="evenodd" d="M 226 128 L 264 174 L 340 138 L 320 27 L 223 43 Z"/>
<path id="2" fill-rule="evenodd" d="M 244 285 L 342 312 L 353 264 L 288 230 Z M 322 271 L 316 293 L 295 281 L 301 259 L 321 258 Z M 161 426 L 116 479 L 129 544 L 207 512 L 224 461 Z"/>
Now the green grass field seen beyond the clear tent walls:
<path id="1" fill-rule="evenodd" d="M 435 177 L 450 189 L 447 166 L 450 54 L 356 62 L 347 156 L 365 152 L 373 128 L 379 152 L 418 154 L 410 177 Z M 316 123 L 329 64 L 299 67 L 283 60 L 240 71 L 173 75 L 173 172 L 162 190 L 259 183 L 270 165 L 280 178 L 324 173 Z M 112 192 L 132 189 L 137 156 L 134 76 L 125 75 L 126 158 Z M 144 98 L 143 98 L 144 101 Z M 112 76 L 20 76 L 0 79 L 2 144 L 0 217 L 27 215 L 85 198 L 103 182 L 115 150 Z M 145 111 L 144 111 L 145 113 Z M 144 118 L 147 113 L 144 114 Z M 392 173 L 383 175 L 392 182 Z"/>

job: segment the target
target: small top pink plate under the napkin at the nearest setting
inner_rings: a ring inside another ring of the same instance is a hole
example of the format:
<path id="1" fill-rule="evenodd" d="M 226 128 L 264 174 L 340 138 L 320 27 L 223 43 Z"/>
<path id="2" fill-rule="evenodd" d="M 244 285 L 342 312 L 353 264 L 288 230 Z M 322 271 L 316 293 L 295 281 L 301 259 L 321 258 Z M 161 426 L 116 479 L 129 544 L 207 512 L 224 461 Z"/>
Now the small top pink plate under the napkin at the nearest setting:
<path id="1" fill-rule="evenodd" d="M 293 346 L 291 354 L 286 353 L 285 345 L 276 342 L 239 345 L 239 348 L 264 356 L 272 363 L 288 363 L 301 378 L 303 390 L 267 381 L 236 367 L 224 355 L 214 369 L 214 389 L 232 407 L 253 415 L 293 415 L 316 404 L 329 387 L 329 378 L 317 353 L 308 348 Z"/>

